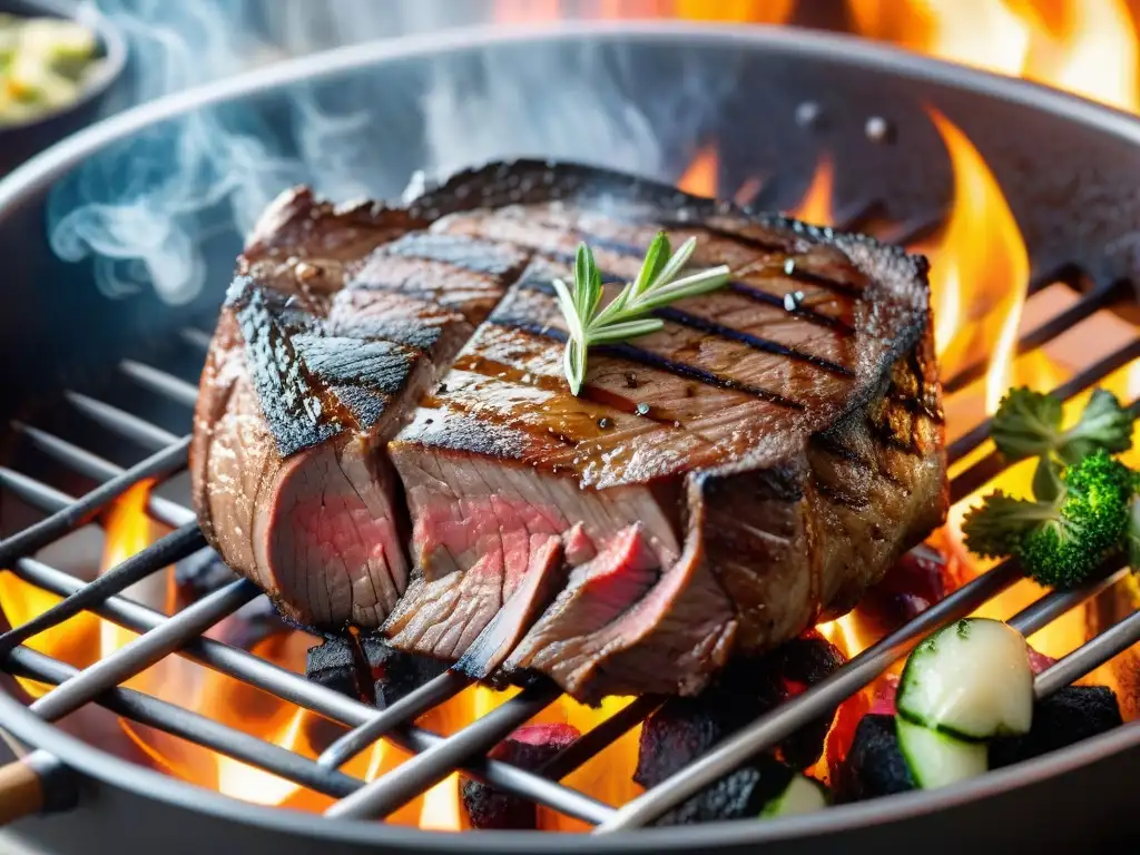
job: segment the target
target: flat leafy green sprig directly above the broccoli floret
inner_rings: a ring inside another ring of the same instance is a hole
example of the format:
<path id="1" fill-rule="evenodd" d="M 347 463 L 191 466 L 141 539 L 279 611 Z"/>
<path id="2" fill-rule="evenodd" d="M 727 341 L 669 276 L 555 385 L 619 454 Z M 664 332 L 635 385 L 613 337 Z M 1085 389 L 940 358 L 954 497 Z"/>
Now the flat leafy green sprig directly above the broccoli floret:
<path id="1" fill-rule="evenodd" d="M 1132 447 L 1134 416 L 1116 396 L 1093 390 L 1076 424 L 1062 429 L 1061 402 L 1051 394 L 1012 389 L 994 414 L 990 435 L 1008 461 L 1056 457 L 1074 464 L 1096 450 L 1112 454 Z"/>

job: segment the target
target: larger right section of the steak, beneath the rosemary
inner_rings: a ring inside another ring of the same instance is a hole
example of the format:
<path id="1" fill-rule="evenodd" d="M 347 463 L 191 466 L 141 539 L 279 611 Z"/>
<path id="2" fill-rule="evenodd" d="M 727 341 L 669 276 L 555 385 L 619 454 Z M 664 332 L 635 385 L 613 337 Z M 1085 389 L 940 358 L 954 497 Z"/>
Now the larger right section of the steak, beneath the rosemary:
<path id="1" fill-rule="evenodd" d="M 763 652 L 850 609 L 942 521 L 921 259 L 725 206 L 694 212 L 685 197 L 678 215 L 652 190 L 600 192 L 596 205 L 584 190 L 500 199 L 486 178 L 435 192 L 433 205 L 462 195 L 483 207 L 443 205 L 430 230 L 510 242 L 532 260 L 389 445 L 413 526 L 413 581 L 385 626 L 396 646 L 462 657 L 531 539 L 578 526 L 600 556 L 504 667 L 587 701 L 690 694 L 732 651 Z M 553 278 L 570 278 L 586 241 L 605 279 L 628 280 L 660 227 L 675 245 L 698 236 L 695 260 L 728 263 L 733 282 L 660 310 L 658 333 L 592 348 L 571 396 Z M 586 583 L 635 523 L 657 578 L 608 611 Z"/>

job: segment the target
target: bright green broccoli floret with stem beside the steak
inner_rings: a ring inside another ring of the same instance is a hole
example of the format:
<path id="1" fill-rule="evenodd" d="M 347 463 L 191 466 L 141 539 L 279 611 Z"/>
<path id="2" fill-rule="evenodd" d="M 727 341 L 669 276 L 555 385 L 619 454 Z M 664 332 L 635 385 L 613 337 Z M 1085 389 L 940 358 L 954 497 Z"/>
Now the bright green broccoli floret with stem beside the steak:
<path id="1" fill-rule="evenodd" d="M 1104 450 L 1061 473 L 1049 502 L 995 492 L 967 514 L 966 545 L 979 555 L 1017 555 L 1042 585 L 1078 585 L 1118 548 L 1129 524 L 1133 473 Z"/>

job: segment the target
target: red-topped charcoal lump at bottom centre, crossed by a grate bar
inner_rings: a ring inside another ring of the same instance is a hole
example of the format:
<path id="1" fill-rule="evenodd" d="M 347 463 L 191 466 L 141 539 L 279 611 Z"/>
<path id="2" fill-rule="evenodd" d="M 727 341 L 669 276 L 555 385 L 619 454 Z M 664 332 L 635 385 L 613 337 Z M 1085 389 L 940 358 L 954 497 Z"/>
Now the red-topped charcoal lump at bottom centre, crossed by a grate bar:
<path id="1" fill-rule="evenodd" d="M 568 724 L 524 725 L 495 746 L 488 756 L 534 772 L 580 735 Z M 459 779 L 459 792 L 473 829 L 538 829 L 538 808 L 534 801 L 470 777 Z"/>

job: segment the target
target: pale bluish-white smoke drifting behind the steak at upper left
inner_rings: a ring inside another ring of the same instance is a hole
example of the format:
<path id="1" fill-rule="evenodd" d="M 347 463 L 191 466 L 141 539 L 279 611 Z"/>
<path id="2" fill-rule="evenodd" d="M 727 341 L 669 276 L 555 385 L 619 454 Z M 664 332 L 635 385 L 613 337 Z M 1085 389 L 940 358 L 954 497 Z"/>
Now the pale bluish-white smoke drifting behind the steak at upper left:
<path id="1" fill-rule="evenodd" d="M 318 50 L 486 21 L 491 8 L 454 0 L 95 5 L 130 41 L 125 103 Z M 187 114 L 101 152 L 62 181 L 49 199 L 52 249 L 71 261 L 93 258 L 109 296 L 150 286 L 179 304 L 206 285 L 204 242 L 235 225 L 244 234 L 294 184 L 343 201 L 402 187 L 418 169 L 446 173 L 516 155 L 658 174 L 653 122 L 621 95 L 630 70 L 616 52 L 579 42 L 542 57 L 529 51 L 520 66 L 510 50 L 489 49 L 433 67 L 410 96 L 394 79 L 365 71 L 291 87 L 268 109 L 271 121 L 267 109 L 243 104 Z M 707 91 L 681 91 L 662 109 L 709 101 Z"/>

